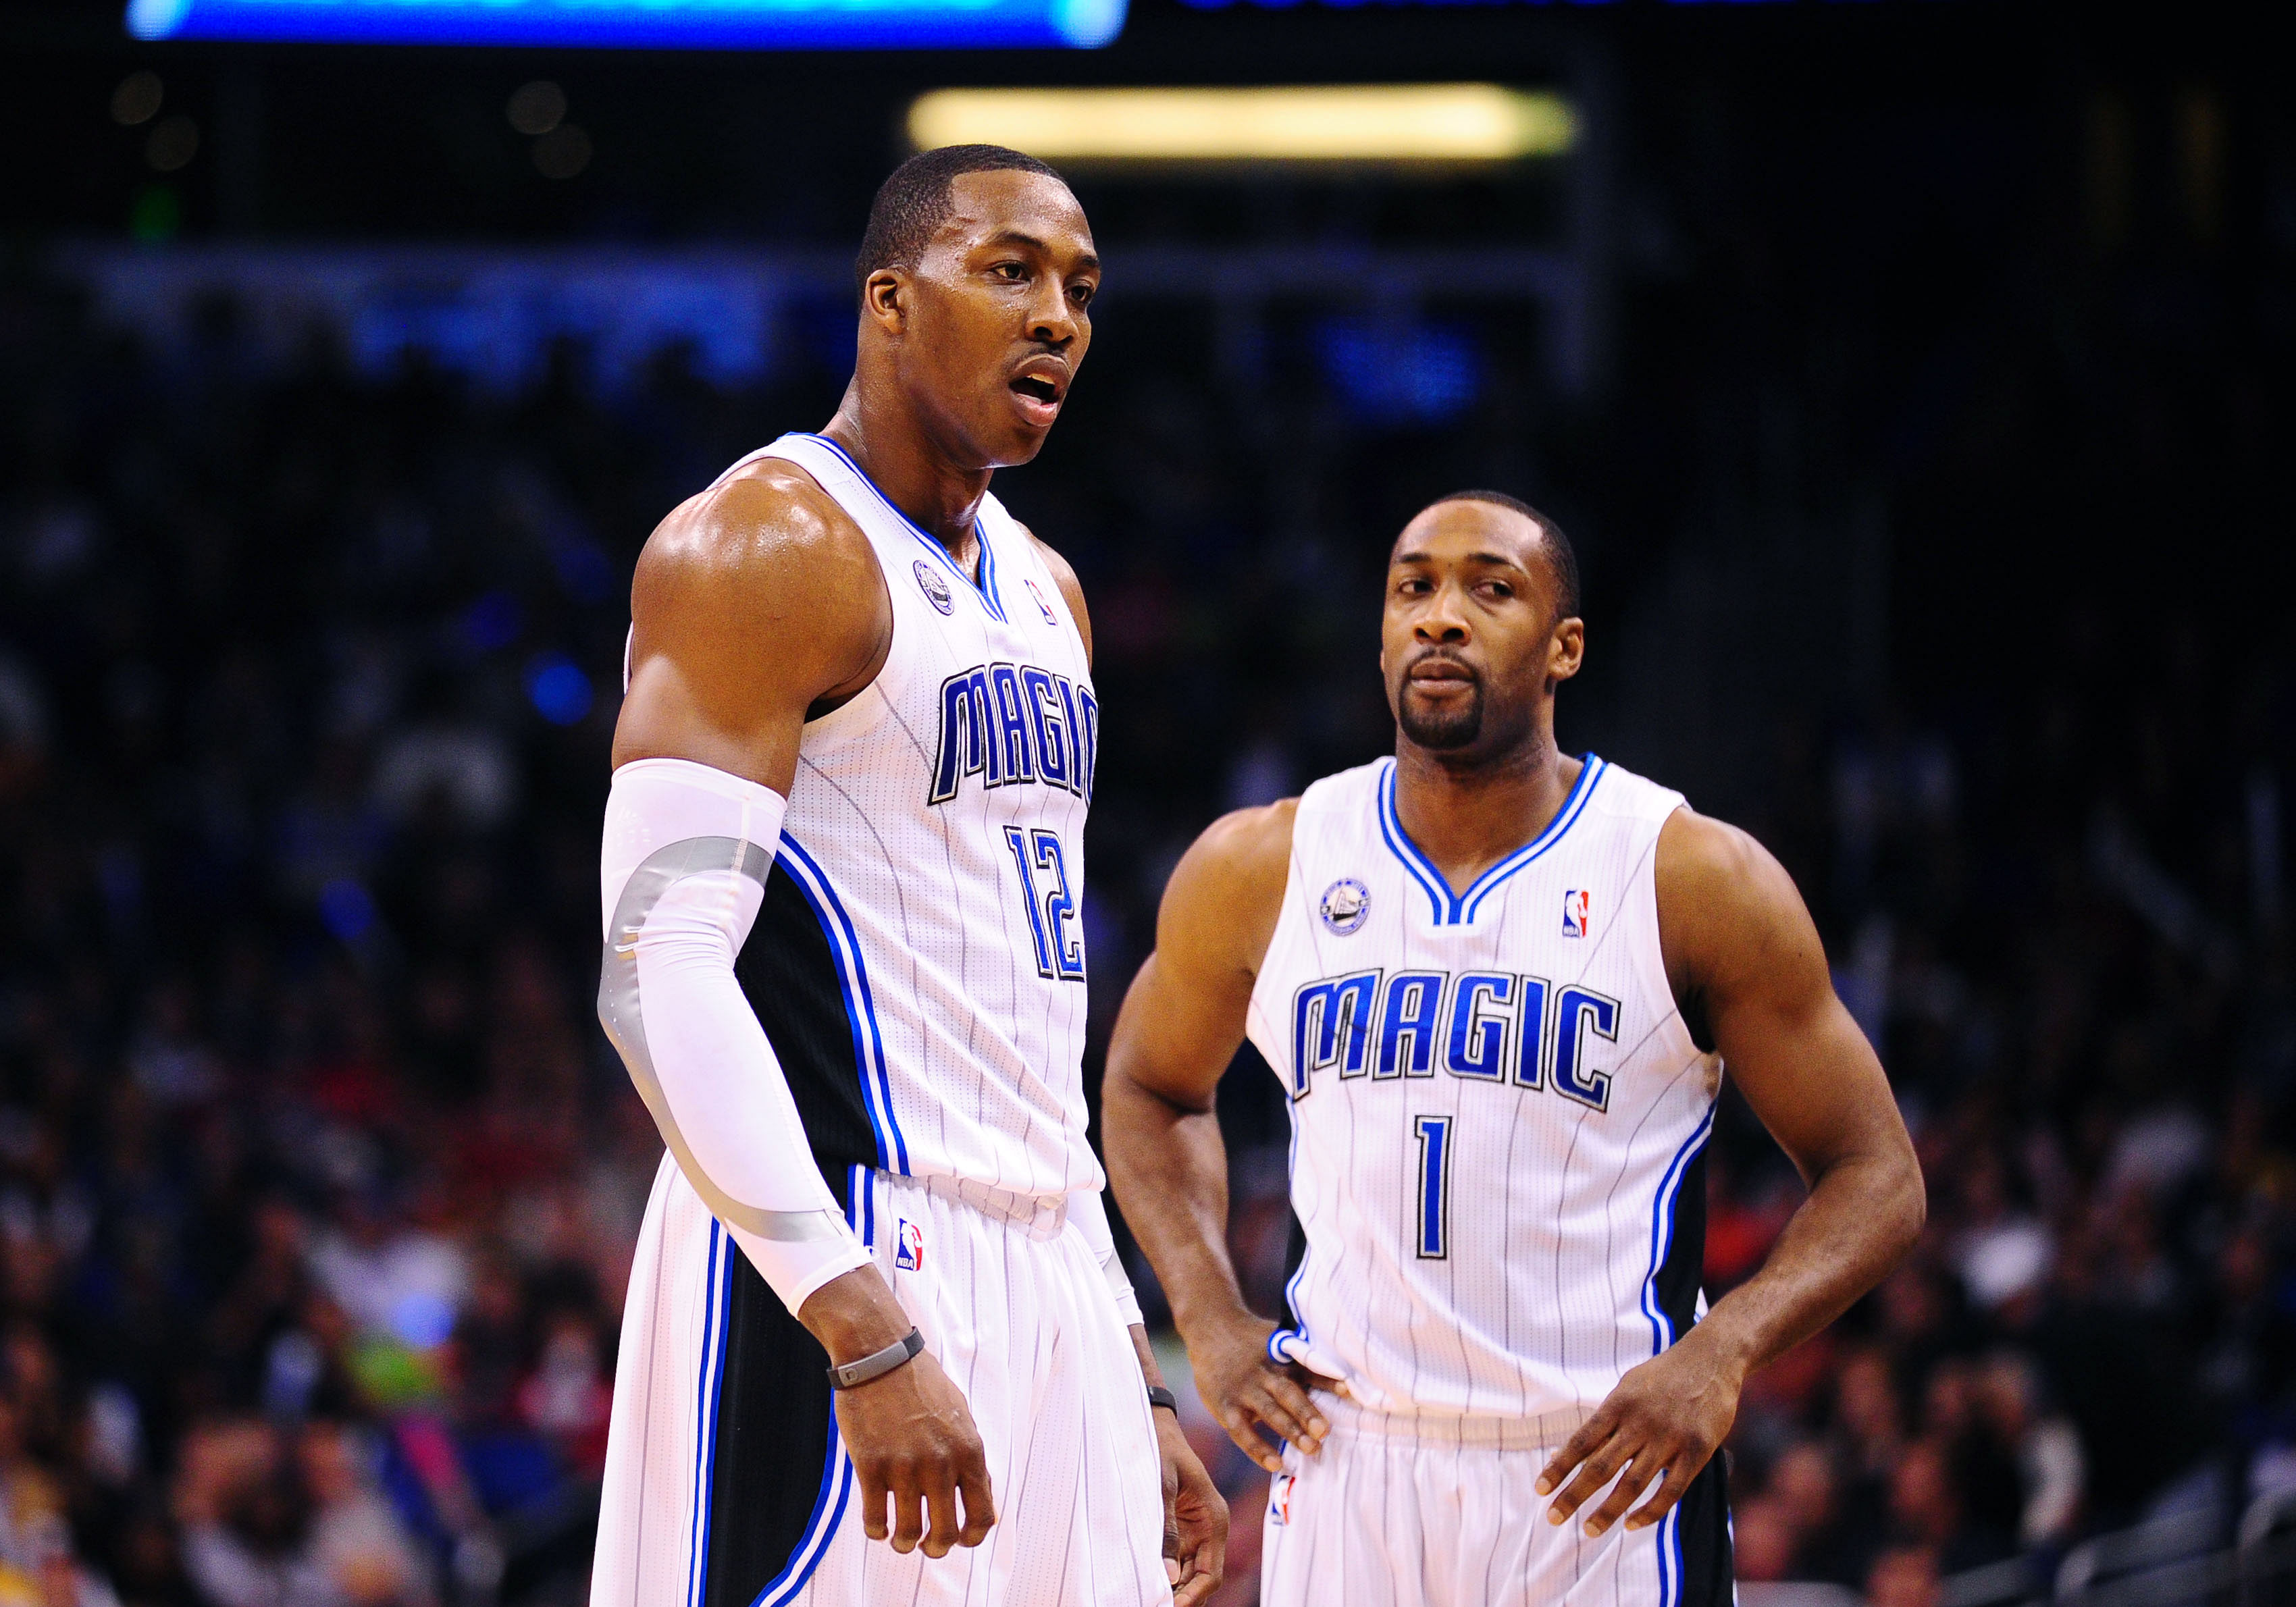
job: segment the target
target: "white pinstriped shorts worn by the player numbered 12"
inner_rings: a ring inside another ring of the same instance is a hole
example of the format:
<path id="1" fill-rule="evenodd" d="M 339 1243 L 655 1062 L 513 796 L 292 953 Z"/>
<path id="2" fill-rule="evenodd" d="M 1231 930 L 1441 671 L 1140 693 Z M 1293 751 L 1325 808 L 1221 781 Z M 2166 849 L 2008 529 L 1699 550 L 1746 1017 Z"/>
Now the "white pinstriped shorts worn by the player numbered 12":
<path id="1" fill-rule="evenodd" d="M 1065 1212 L 859 1166 L 840 1194 L 971 1405 L 996 1527 L 941 1559 L 861 1534 L 829 1359 L 664 1157 L 629 1274 L 592 1607 L 1169 1602 L 1139 1357 Z"/>

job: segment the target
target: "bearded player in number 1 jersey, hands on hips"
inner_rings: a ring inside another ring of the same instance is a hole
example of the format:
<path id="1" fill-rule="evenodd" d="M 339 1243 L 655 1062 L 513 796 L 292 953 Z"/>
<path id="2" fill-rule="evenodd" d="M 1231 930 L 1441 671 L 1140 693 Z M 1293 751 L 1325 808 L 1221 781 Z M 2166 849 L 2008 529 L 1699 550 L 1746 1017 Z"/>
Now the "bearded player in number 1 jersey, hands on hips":
<path id="1" fill-rule="evenodd" d="M 1396 755 L 1196 840 L 1109 1047 L 1125 1219 L 1274 1474 L 1270 1607 L 1729 1602 L 1708 1458 L 1740 1382 L 1922 1224 L 1777 861 L 1554 748 L 1582 647 L 1550 521 L 1488 491 L 1412 519 L 1380 643 Z M 1290 1327 L 1244 1309 L 1224 1247 L 1212 1093 L 1244 1035 L 1290 1095 Z M 1706 1311 L 1724 1065 L 1809 1198 Z"/>

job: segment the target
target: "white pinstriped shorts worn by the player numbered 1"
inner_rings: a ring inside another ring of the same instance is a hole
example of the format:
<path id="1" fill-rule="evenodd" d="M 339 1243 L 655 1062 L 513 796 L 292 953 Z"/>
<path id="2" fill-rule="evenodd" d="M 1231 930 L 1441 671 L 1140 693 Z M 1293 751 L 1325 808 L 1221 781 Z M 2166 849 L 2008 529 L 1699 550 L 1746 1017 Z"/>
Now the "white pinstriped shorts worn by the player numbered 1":
<path id="1" fill-rule="evenodd" d="M 1729 1607 L 1722 1458 L 1655 1529 L 1548 1522 L 1538 1469 L 1577 1428 L 1428 1426 L 1318 1396 L 1332 1437 L 1270 1481 L 1261 1607 Z M 1451 1437 L 1440 1437 L 1451 1428 Z M 1552 1442 L 1552 1444 L 1550 1444 Z"/>

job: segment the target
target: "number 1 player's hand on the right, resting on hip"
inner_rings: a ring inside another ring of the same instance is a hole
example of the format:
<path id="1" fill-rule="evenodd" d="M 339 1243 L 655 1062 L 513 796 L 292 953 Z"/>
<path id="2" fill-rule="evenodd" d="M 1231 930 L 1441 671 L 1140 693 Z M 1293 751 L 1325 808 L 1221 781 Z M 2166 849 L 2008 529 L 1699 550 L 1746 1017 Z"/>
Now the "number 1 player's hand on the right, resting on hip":
<path id="1" fill-rule="evenodd" d="M 1701 1343 L 1699 1334 L 1701 1329 L 1690 1329 L 1678 1345 L 1628 1371 L 1596 1414 L 1570 1435 L 1570 1444 L 1545 1465 L 1538 1495 L 1561 1488 L 1548 1506 L 1550 1524 L 1570 1522 L 1612 1476 L 1619 1483 L 1587 1515 L 1589 1536 L 1603 1534 L 1621 1515 L 1628 1529 L 1649 1529 L 1683 1499 L 1683 1490 L 1729 1435 L 1738 1416 L 1738 1389 L 1745 1384 L 1743 1368 L 1720 1345 Z M 1651 1499 L 1628 1513 L 1660 1474 L 1665 1478 Z"/>

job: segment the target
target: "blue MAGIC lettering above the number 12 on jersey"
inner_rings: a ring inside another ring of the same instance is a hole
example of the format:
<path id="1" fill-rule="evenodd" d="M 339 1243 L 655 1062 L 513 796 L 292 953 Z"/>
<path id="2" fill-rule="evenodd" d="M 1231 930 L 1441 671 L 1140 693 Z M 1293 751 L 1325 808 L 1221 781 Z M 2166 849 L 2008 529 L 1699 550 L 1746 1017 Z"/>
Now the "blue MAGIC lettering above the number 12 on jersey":
<path id="1" fill-rule="evenodd" d="M 1033 663 L 976 663 L 941 682 L 941 735 L 925 804 L 983 787 L 1040 783 L 1093 799 L 1100 702 L 1091 686 Z"/>

